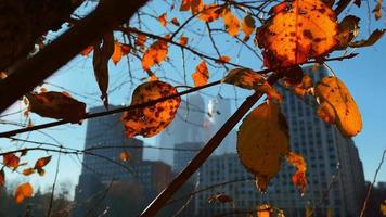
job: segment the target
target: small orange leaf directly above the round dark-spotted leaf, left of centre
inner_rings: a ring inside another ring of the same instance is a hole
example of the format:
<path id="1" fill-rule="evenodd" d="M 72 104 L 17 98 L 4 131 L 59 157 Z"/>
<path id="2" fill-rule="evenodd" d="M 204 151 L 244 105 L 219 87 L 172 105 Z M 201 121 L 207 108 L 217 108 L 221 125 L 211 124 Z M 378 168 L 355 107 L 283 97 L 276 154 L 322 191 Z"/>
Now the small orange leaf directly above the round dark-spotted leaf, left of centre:
<path id="1" fill-rule="evenodd" d="M 154 64 L 160 64 L 168 54 L 168 43 L 158 40 L 153 43 L 142 56 L 142 68 L 149 71 Z"/>

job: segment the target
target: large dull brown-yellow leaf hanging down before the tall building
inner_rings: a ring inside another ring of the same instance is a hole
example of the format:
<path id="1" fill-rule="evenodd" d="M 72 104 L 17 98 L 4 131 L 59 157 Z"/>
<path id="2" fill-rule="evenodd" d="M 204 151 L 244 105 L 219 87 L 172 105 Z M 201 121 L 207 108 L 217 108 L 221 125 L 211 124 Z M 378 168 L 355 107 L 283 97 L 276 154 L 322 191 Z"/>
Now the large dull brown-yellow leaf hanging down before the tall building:
<path id="1" fill-rule="evenodd" d="M 265 102 L 244 118 L 237 132 L 239 158 L 256 175 L 260 191 L 266 191 L 288 152 L 287 124 L 276 103 Z"/>

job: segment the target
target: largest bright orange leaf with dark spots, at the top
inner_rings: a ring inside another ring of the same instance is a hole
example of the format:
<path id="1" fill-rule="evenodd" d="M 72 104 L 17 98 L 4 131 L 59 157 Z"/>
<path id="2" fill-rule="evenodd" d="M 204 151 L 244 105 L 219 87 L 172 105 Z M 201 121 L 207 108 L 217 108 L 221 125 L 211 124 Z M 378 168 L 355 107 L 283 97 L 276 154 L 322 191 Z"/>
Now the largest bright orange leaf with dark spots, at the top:
<path id="1" fill-rule="evenodd" d="M 320 0 L 283 3 L 286 7 L 280 7 L 256 35 L 268 67 L 305 63 L 334 49 L 338 28 L 329 5 Z"/>

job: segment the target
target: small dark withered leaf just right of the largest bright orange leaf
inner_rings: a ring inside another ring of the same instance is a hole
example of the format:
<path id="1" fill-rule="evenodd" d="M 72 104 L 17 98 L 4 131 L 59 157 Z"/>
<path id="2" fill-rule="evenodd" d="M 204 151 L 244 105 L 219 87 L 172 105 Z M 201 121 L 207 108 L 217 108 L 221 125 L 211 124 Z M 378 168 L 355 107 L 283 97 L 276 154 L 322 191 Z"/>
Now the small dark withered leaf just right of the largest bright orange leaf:
<path id="1" fill-rule="evenodd" d="M 359 21 L 360 21 L 359 17 L 353 15 L 348 15 L 339 23 L 337 49 L 345 50 L 348 47 L 348 43 L 351 42 L 351 40 L 358 36 Z"/>

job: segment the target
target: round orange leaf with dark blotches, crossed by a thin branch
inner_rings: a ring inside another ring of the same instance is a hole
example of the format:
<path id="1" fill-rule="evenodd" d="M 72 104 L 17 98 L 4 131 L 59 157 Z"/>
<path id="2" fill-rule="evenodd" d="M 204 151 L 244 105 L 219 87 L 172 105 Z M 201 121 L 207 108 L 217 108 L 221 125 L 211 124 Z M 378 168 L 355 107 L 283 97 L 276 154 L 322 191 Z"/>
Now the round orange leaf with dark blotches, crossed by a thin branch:
<path id="1" fill-rule="evenodd" d="M 144 82 L 138 86 L 132 94 L 131 105 L 146 103 L 160 98 L 177 94 L 177 89 L 159 80 Z M 152 106 L 130 110 L 124 113 L 123 122 L 126 136 L 137 135 L 153 137 L 163 131 L 175 118 L 181 98 L 172 98 Z"/>

